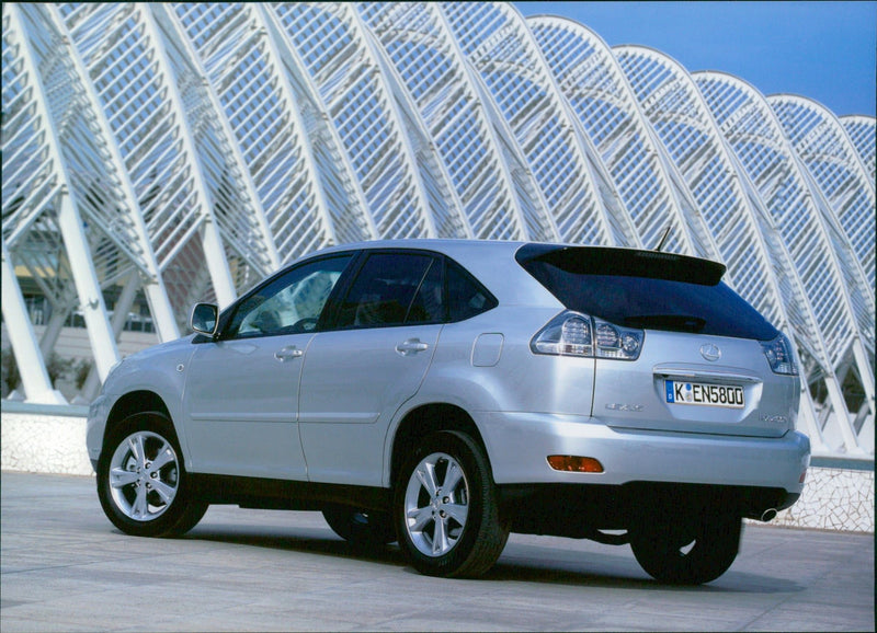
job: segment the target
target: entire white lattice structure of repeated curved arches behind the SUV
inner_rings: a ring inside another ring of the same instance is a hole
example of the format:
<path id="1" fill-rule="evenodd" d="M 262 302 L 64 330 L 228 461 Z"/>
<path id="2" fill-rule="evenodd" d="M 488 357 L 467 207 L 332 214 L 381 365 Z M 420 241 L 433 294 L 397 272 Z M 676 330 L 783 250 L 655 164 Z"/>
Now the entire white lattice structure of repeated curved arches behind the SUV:
<path id="1" fill-rule="evenodd" d="M 499 2 L 8 3 L 2 28 L 29 401 L 65 401 L 47 361 L 73 321 L 88 399 L 138 306 L 172 339 L 194 301 L 329 244 L 667 233 L 794 338 L 817 452 L 873 456 L 873 117 Z"/>

